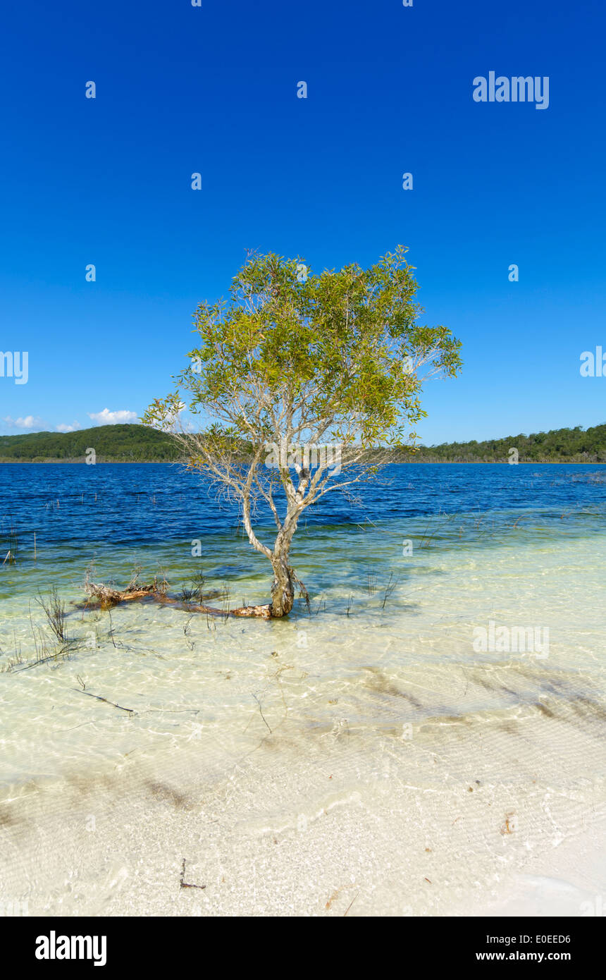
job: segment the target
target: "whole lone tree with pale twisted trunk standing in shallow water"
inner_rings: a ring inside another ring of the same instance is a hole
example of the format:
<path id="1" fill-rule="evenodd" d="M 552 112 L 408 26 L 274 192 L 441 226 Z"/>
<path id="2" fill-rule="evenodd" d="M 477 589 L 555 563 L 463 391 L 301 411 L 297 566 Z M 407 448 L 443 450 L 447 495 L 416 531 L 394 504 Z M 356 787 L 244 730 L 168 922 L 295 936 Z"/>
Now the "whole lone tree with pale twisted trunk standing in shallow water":
<path id="1" fill-rule="evenodd" d="M 295 586 L 304 592 L 290 561 L 303 511 L 371 478 L 386 447 L 413 449 L 422 381 L 461 366 L 450 331 L 417 322 L 406 251 L 319 274 L 300 259 L 249 257 L 228 302 L 198 307 L 188 367 L 142 418 L 174 432 L 189 468 L 238 501 L 251 544 L 271 563 L 271 602 L 234 612 L 290 613 Z M 186 407 L 207 417 L 206 429 L 183 427 Z M 276 524 L 273 543 L 256 533 L 263 512 Z"/>

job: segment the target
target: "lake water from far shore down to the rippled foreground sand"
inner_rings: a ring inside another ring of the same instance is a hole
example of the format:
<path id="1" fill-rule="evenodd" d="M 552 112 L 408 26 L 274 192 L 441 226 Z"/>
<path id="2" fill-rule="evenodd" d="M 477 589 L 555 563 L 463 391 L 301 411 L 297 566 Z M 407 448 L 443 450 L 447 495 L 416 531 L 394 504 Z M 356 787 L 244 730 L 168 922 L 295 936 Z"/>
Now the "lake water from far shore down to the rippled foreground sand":
<path id="1" fill-rule="evenodd" d="M 138 566 L 141 580 L 165 576 L 172 596 L 204 574 L 206 595 L 217 596 L 208 602 L 225 611 L 267 599 L 268 563 L 243 537 L 237 513 L 217 508 L 191 474 L 10 465 L 1 475 L 5 541 L 9 521 L 18 541 L 16 563 L 0 572 L 5 782 L 115 759 L 133 733 L 146 753 L 192 731 L 246 745 L 246 722 L 254 719 L 255 737 L 271 728 L 285 691 L 302 733 L 340 723 L 344 711 L 350 726 L 376 733 L 469 711 L 531 711 L 537 699 L 565 702 L 583 685 L 597 697 L 605 467 L 391 467 L 384 484 L 364 488 L 356 511 L 339 502 L 303 520 L 293 561 L 310 609 L 299 601 L 288 620 L 269 623 L 149 601 L 111 615 L 84 605 L 87 569 L 123 588 Z M 202 556 L 193 558 L 196 540 Z M 61 651 L 36 603 L 52 585 L 68 613 Z M 490 622 L 548 636 L 547 655 L 540 643 L 474 649 Z M 461 701 L 457 670 L 473 664 L 530 670 L 533 679 L 511 690 L 480 685 L 473 697 L 463 685 Z M 411 671 L 431 675 L 437 693 L 390 695 Z M 565 679 L 559 694 L 553 671 Z"/>

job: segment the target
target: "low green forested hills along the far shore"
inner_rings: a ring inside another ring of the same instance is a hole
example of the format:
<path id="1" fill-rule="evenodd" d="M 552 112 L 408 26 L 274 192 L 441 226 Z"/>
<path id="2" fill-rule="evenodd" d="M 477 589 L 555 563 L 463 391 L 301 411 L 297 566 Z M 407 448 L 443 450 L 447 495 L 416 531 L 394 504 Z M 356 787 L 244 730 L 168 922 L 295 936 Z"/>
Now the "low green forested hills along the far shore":
<path id="1" fill-rule="evenodd" d="M 171 435 L 132 423 L 96 425 L 75 432 L 3 435 L 0 436 L 0 463 L 84 463 L 91 449 L 95 451 L 97 463 L 173 463 L 181 456 Z M 512 450 L 517 452 L 519 463 L 606 463 L 606 423 L 587 429 L 577 425 L 484 442 L 472 439 L 419 446 L 414 454 L 384 450 L 382 458 L 385 462 L 409 464 L 507 463 Z"/>

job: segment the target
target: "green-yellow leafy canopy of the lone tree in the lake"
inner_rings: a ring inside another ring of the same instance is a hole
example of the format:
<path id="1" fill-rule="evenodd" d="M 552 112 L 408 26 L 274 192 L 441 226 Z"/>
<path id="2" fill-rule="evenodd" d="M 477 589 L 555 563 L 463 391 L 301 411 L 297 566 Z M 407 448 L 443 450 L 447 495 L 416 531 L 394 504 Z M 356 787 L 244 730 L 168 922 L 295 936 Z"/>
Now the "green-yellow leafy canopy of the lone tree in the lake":
<path id="1" fill-rule="evenodd" d="M 300 259 L 252 257 L 229 302 L 198 307 L 200 343 L 177 389 L 144 420 L 170 427 L 189 393 L 189 410 L 215 419 L 208 434 L 221 446 L 230 437 L 256 445 L 275 436 L 277 422 L 300 439 L 410 443 L 411 426 L 426 415 L 419 368 L 456 374 L 461 345 L 447 327 L 417 322 L 418 284 L 405 252 L 398 246 L 368 270 L 318 274 Z"/>

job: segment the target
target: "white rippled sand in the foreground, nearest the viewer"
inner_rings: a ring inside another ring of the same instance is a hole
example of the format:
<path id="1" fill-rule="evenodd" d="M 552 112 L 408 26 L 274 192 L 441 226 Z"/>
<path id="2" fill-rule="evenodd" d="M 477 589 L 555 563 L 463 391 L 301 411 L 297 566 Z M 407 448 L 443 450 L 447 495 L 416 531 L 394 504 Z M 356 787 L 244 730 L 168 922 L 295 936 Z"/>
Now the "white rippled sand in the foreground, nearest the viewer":
<path id="1" fill-rule="evenodd" d="M 238 760 L 192 741 L 23 788 L 0 809 L 6 894 L 42 915 L 582 915 L 604 895 L 590 718 L 443 719 L 374 756 L 348 725 L 304 746 L 261 727 Z"/>

